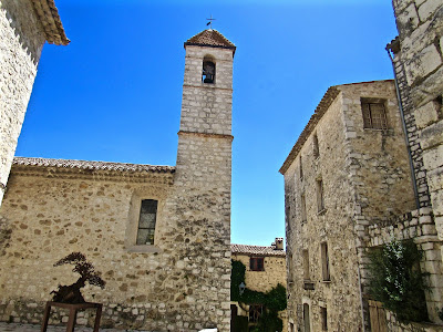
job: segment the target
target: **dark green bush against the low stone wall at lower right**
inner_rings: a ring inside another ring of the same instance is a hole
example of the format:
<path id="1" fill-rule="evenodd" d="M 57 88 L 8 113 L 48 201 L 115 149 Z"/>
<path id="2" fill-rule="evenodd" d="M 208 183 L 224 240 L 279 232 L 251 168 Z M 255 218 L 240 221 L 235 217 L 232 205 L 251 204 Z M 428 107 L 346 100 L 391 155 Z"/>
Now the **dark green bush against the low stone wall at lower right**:
<path id="1" fill-rule="evenodd" d="M 370 293 L 395 313 L 399 321 L 427 320 L 420 251 L 413 240 L 396 241 L 370 252 Z"/>

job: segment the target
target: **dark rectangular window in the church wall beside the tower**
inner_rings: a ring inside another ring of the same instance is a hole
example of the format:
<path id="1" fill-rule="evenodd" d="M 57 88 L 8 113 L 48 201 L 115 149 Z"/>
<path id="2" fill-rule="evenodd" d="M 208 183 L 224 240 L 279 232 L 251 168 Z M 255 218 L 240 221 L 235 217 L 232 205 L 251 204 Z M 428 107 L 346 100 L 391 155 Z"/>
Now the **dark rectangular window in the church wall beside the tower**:
<path id="1" fill-rule="evenodd" d="M 137 245 L 154 245 L 157 200 L 143 199 L 140 209 Z"/>

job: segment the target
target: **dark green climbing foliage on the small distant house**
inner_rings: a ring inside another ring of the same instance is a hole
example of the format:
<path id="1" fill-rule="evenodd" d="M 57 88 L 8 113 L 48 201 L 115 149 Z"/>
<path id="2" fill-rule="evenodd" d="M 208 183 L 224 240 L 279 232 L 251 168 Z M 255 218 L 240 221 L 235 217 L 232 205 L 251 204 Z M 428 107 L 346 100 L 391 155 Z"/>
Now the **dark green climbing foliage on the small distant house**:
<path id="1" fill-rule="evenodd" d="M 230 300 L 245 304 L 261 304 L 266 308 L 260 321 L 253 331 L 276 332 L 282 330 L 282 321 L 278 318 L 278 311 L 287 308 L 286 288 L 277 284 L 269 292 L 258 292 L 246 287 L 240 295 L 239 284 L 245 282 L 246 267 L 237 260 L 231 260 Z M 241 330 L 243 331 L 243 330 Z M 246 331 L 246 330 L 245 330 Z"/>

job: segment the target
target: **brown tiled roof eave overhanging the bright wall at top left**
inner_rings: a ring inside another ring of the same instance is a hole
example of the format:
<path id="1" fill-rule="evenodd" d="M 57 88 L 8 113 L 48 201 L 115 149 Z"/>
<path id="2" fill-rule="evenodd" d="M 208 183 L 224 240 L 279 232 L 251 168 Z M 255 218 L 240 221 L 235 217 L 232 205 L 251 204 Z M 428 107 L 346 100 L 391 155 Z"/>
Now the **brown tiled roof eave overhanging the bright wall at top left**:
<path id="1" fill-rule="evenodd" d="M 70 40 L 64 33 L 54 0 L 32 0 L 32 4 L 43 25 L 47 41 L 55 45 L 68 45 Z"/>

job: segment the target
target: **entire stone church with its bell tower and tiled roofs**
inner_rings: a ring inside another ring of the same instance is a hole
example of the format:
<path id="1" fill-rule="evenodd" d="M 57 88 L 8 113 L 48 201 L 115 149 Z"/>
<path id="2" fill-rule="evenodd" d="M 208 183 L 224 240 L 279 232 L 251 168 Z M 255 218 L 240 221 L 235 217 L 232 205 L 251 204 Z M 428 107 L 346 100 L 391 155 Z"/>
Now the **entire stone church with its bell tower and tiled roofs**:
<path id="1" fill-rule="evenodd" d="M 52 264 L 81 251 L 107 282 L 85 288 L 104 304 L 102 326 L 229 331 L 235 45 L 209 29 L 185 50 L 175 167 L 14 158 L 0 210 L 0 320 L 39 322 L 50 292 L 76 279 Z"/>

